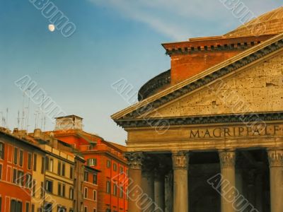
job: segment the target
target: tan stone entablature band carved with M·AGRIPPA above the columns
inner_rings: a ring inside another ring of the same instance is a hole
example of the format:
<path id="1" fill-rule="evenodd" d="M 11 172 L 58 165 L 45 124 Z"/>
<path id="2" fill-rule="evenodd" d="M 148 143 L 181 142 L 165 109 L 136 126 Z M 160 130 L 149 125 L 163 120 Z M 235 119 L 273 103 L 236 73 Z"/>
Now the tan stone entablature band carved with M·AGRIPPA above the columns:
<path id="1" fill-rule="evenodd" d="M 253 126 L 248 126 L 245 123 L 176 125 L 164 131 L 164 134 L 157 134 L 156 129 L 152 127 L 131 128 L 127 129 L 127 149 L 128 151 L 150 152 L 208 151 L 226 148 L 275 148 L 283 146 L 283 120 L 264 123 L 266 125 L 261 122 Z M 221 129 L 221 137 L 217 134 L 219 129 Z M 235 136 L 233 136 L 234 129 Z M 242 129 L 244 131 L 240 136 L 238 132 Z M 199 130 L 200 137 L 196 135 L 197 130 Z M 207 130 L 210 137 L 205 133 Z M 195 136 L 192 136 L 192 131 Z M 213 131 L 216 136 L 213 136 Z M 206 136 L 204 137 L 204 135 Z"/>

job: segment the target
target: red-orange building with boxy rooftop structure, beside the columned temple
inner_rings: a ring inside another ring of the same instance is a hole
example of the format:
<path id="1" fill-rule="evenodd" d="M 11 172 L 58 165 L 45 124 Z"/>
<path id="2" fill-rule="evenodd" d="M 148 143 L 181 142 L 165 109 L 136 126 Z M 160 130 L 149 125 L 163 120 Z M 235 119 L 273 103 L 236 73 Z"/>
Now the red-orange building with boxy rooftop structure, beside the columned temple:
<path id="1" fill-rule="evenodd" d="M 86 165 L 100 170 L 97 211 L 127 211 L 127 160 L 123 155 L 126 147 L 86 133 L 82 130 L 82 118 L 75 115 L 58 117 L 52 133 L 78 149 Z"/>

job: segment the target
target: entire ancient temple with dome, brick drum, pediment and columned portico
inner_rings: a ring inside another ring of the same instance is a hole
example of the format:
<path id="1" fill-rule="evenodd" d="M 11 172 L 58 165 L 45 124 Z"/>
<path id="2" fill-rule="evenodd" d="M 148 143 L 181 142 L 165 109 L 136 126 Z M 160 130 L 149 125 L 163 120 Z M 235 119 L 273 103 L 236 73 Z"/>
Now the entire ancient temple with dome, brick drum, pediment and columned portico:
<path id="1" fill-rule="evenodd" d="M 129 212 L 283 211 L 283 8 L 226 35 L 163 44 L 171 69 L 112 115 Z"/>

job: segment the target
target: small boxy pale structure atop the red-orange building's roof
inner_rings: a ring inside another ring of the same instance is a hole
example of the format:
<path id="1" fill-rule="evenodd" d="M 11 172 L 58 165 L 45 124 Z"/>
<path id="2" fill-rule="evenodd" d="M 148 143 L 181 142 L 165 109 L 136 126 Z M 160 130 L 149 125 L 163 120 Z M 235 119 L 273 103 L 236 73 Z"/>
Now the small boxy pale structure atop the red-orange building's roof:
<path id="1" fill-rule="evenodd" d="M 69 129 L 83 129 L 83 118 L 76 115 L 69 115 L 65 117 L 56 118 L 55 131 L 57 130 L 69 130 Z"/>

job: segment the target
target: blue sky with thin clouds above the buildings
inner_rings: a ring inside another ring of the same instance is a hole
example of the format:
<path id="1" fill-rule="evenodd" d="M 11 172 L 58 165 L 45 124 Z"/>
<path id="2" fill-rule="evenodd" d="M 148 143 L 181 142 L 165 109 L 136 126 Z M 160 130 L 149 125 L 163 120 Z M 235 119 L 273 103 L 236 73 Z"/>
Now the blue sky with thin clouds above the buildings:
<path id="1" fill-rule="evenodd" d="M 64 112 L 83 117 L 86 131 L 118 143 L 127 134 L 110 115 L 129 103 L 112 83 L 125 78 L 139 90 L 170 68 L 161 43 L 222 35 L 241 25 L 220 0 L 54 0 L 76 25 L 74 35 L 64 37 L 47 29 L 49 21 L 30 1 L 0 0 L 0 125 L 17 127 L 25 108 L 28 131 L 35 128 L 39 105 L 31 101 L 28 113 L 28 98 L 14 84 L 28 75 Z M 283 1 L 243 3 L 260 15 Z M 37 117 L 37 127 L 54 129 L 48 117 L 41 124 L 44 114 Z"/>

